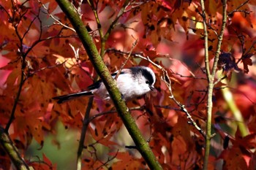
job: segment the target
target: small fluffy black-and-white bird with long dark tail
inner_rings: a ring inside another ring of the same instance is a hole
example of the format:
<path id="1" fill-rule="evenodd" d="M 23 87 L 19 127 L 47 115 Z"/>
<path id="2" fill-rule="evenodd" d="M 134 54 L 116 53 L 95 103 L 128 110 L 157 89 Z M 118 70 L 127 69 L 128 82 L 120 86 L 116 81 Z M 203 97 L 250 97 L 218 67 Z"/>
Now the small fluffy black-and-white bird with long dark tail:
<path id="1" fill-rule="evenodd" d="M 117 72 L 112 74 L 116 77 Z M 154 72 L 146 66 L 134 66 L 129 69 L 122 69 L 116 83 L 125 101 L 130 101 L 138 98 L 154 90 L 154 83 L 156 76 Z M 78 98 L 80 96 L 97 96 L 103 100 L 110 100 L 108 90 L 105 88 L 102 80 L 89 85 L 88 90 L 79 93 L 67 94 L 64 96 L 56 96 L 53 99 L 58 100 L 59 104 L 69 101 L 70 99 Z"/>

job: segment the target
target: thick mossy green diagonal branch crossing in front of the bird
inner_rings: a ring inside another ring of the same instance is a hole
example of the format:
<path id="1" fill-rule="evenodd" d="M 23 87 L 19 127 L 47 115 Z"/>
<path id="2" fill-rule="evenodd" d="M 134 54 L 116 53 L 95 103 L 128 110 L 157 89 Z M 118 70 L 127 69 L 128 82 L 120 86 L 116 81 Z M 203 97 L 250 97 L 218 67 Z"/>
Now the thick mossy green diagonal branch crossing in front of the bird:
<path id="1" fill-rule="evenodd" d="M 59 7 L 61 7 L 63 12 L 67 15 L 67 18 L 69 18 L 73 28 L 75 28 L 75 31 L 77 32 L 87 54 L 89 55 L 91 63 L 107 88 L 118 115 L 123 120 L 123 123 L 138 147 L 140 154 L 143 156 L 150 169 L 162 169 L 157 161 L 157 158 L 154 156 L 154 153 L 151 151 L 151 148 L 140 134 L 140 130 L 136 125 L 135 120 L 130 115 L 129 109 L 127 108 L 124 100 L 121 97 L 121 93 L 116 86 L 116 81 L 113 80 L 107 66 L 105 66 L 105 63 L 102 61 L 102 58 L 99 55 L 97 47 L 94 45 L 89 32 L 86 30 L 86 27 L 83 26 L 82 20 L 80 20 L 80 15 L 78 15 L 77 11 L 74 9 L 74 7 L 72 7 L 68 0 L 56 1 L 59 4 Z"/>

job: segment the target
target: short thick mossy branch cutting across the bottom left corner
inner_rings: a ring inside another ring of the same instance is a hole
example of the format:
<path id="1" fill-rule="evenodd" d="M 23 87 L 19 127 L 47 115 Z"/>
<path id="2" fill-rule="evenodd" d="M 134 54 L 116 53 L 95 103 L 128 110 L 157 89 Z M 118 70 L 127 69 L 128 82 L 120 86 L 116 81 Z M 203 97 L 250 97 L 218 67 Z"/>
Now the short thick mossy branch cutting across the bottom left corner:
<path id="1" fill-rule="evenodd" d="M 5 152 L 9 155 L 12 160 L 12 163 L 17 169 L 20 170 L 29 170 L 29 166 L 25 163 L 23 158 L 20 157 L 18 149 L 15 147 L 15 144 L 12 143 L 10 136 L 6 133 L 3 127 L 0 125 L 0 144 L 4 148 Z"/>

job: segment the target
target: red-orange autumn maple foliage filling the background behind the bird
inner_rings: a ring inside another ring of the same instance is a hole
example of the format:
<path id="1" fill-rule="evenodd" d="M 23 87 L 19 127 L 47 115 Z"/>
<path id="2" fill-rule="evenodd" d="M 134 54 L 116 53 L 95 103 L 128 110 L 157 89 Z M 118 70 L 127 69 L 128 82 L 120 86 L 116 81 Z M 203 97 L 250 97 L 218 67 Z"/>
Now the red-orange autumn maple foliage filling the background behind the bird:
<path id="1" fill-rule="evenodd" d="M 256 1 L 74 0 L 70 7 L 110 72 L 137 65 L 154 70 L 157 90 L 127 106 L 162 169 L 256 169 Z M 0 136 L 10 137 L 24 163 L 34 169 L 58 169 L 60 163 L 148 169 L 112 103 L 52 99 L 86 90 L 99 78 L 58 3 L 1 0 L 0 20 Z M 75 155 L 78 162 L 53 162 L 50 152 L 31 155 L 29 150 L 61 148 L 61 139 L 45 145 L 60 124 L 75 136 L 72 152 L 83 150 Z M 15 169 L 12 149 L 0 141 L 0 169 Z"/>

